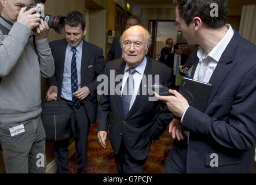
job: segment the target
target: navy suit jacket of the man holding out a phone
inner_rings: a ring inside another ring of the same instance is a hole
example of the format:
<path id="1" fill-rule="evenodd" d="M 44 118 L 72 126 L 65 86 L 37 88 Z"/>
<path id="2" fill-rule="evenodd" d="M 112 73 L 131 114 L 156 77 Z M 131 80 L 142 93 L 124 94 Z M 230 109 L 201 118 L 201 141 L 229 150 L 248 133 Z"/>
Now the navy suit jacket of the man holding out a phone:
<path id="1" fill-rule="evenodd" d="M 256 51 L 255 45 L 235 31 L 211 76 L 213 87 L 204 112 L 192 106 L 186 111 L 182 129 L 191 131 L 186 154 L 188 173 L 253 172 L 256 52 L 252 51 Z M 195 58 L 192 77 L 199 61 Z M 218 168 L 210 167 L 213 153 L 218 154 Z"/>

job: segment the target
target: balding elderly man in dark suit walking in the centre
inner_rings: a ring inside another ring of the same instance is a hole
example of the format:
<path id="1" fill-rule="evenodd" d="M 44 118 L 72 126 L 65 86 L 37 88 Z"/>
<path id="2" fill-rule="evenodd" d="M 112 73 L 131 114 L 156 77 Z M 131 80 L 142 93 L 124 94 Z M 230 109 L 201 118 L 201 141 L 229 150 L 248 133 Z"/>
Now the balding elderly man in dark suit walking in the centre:
<path id="1" fill-rule="evenodd" d="M 103 147 L 106 146 L 109 127 L 119 173 L 142 172 L 152 140 L 158 139 L 173 116 L 164 103 L 150 101 L 153 94 L 142 93 L 145 88 L 147 90 L 143 75 L 158 76 L 159 83 L 167 87 L 170 87 L 172 80 L 170 68 L 146 57 L 150 38 L 147 29 L 139 25 L 126 29 L 120 39 L 123 58 L 108 62 L 104 70 L 109 80 L 109 91 L 120 88 L 117 83 L 111 82 L 111 74 L 115 73 L 115 77 L 123 75 L 120 83 L 122 93 L 101 95 L 97 114 L 98 140 Z M 130 91 L 130 88 L 133 90 Z"/>

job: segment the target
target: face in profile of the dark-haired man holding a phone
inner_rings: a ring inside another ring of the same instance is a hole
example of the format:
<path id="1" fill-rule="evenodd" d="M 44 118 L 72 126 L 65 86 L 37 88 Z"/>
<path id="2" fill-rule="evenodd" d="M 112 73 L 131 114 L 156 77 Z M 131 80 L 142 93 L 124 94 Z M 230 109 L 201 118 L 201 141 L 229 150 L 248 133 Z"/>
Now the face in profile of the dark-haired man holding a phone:
<path id="1" fill-rule="evenodd" d="M 192 27 L 192 23 L 189 24 L 189 26 L 186 25 L 184 18 L 180 17 L 178 6 L 176 6 L 175 14 L 176 14 L 176 22 L 177 22 L 177 31 L 182 32 L 184 38 L 186 39 L 189 45 L 194 45 L 195 43 L 193 43 L 193 32 L 195 31 Z"/>

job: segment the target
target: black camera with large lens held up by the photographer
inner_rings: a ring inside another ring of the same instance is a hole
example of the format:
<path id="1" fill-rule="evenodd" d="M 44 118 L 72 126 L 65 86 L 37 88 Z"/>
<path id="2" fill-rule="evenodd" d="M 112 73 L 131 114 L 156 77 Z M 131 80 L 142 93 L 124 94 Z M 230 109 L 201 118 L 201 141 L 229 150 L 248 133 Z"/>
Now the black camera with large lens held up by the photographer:
<path id="1" fill-rule="evenodd" d="M 52 16 L 52 15 L 45 14 L 45 5 L 43 5 L 45 3 L 45 1 L 42 1 L 42 0 L 35 1 L 34 3 L 27 6 L 26 11 L 31 8 L 34 8 L 34 7 L 40 8 L 40 10 L 36 13 L 41 14 L 42 20 L 46 21 L 46 23 L 49 25 L 50 28 L 53 28 L 55 32 L 57 32 L 58 34 L 61 34 L 61 31 L 65 25 L 64 20 L 66 17 L 65 16 Z"/>

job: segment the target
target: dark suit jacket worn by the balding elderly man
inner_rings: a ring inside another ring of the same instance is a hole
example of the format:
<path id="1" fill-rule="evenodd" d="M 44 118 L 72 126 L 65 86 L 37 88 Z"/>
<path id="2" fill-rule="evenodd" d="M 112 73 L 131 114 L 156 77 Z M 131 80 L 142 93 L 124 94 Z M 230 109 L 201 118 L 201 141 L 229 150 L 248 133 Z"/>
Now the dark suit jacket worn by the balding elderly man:
<path id="1" fill-rule="evenodd" d="M 110 79 L 111 70 L 115 72 L 115 76 L 122 75 L 125 65 L 126 62 L 123 59 L 108 62 L 105 67 L 108 79 Z M 160 62 L 147 58 L 144 75 L 160 75 L 159 83 L 170 87 L 171 69 Z M 119 83 L 116 82 L 115 87 Z M 142 88 L 147 90 L 147 87 L 140 84 L 140 92 Z M 144 160 L 149 154 L 152 139 L 158 139 L 166 130 L 173 115 L 163 102 L 148 101 L 150 96 L 154 95 L 137 95 L 130 112 L 123 117 L 120 95 L 101 95 L 97 114 L 98 131 L 107 131 L 109 127 L 111 145 L 116 154 L 123 137 L 131 156 L 137 160 Z M 160 109 L 160 105 L 163 109 Z"/>

